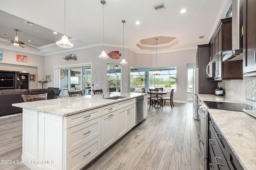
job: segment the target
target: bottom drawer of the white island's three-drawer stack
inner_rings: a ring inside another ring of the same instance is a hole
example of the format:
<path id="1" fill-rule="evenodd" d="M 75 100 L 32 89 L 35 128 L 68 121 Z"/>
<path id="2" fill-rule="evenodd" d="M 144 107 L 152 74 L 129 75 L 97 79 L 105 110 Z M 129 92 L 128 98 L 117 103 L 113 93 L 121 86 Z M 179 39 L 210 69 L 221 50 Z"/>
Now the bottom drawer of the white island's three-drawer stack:
<path id="1" fill-rule="evenodd" d="M 92 141 L 86 143 L 82 147 L 67 154 L 66 157 L 66 169 L 67 170 L 80 170 L 101 152 L 100 148 L 100 136 L 96 137 Z"/>

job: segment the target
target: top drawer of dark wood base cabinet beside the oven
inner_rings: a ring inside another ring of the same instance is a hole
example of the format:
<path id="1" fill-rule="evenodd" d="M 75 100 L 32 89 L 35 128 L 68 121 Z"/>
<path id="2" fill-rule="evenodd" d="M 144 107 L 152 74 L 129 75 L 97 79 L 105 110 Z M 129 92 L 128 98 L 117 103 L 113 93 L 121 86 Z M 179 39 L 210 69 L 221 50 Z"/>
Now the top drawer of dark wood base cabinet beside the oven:
<path id="1" fill-rule="evenodd" d="M 224 156 L 226 157 L 228 143 L 224 139 L 223 135 L 220 132 L 220 129 L 217 127 L 216 123 L 213 121 L 211 116 L 209 118 L 209 124 L 210 124 L 210 127 L 212 127 L 212 132 L 213 132 L 214 136 L 216 137 Z"/>

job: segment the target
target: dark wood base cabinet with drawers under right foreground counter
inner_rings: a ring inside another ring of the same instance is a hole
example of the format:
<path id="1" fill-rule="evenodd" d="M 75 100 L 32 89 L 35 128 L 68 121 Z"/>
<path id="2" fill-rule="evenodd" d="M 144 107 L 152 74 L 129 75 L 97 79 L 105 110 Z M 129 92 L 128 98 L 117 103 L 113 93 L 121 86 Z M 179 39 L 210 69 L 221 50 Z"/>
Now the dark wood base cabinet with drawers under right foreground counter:
<path id="1" fill-rule="evenodd" d="M 209 117 L 209 170 L 243 170 L 220 129 Z"/>

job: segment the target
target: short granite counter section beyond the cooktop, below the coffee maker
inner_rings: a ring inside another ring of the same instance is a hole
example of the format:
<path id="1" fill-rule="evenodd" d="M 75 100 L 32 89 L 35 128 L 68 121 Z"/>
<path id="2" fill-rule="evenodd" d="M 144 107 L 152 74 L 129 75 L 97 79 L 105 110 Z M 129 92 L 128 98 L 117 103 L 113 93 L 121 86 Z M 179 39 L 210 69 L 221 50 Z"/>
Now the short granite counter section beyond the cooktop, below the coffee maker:
<path id="1" fill-rule="evenodd" d="M 198 96 L 203 101 L 241 103 L 241 102 L 239 102 L 237 100 L 234 100 L 232 98 L 228 98 L 226 96 L 215 96 L 214 94 L 198 94 Z"/>

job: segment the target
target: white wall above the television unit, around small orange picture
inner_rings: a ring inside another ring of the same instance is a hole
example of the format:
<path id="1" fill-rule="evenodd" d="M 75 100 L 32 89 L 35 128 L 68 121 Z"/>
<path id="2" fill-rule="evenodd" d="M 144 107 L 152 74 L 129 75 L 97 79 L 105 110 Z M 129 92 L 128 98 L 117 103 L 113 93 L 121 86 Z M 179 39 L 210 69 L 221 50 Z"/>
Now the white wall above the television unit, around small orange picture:
<path id="1" fill-rule="evenodd" d="M 38 80 L 45 79 L 44 74 L 44 57 L 18 51 L 1 49 L 3 51 L 3 59 L 0 61 L 0 70 L 19 71 L 26 70 L 29 74 L 35 74 L 35 81 L 29 81 L 29 88 L 42 88 L 42 84 Z M 17 55 L 28 56 L 28 62 L 17 61 Z"/>

